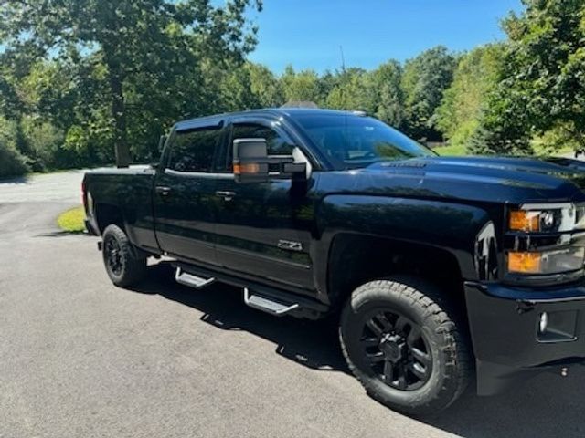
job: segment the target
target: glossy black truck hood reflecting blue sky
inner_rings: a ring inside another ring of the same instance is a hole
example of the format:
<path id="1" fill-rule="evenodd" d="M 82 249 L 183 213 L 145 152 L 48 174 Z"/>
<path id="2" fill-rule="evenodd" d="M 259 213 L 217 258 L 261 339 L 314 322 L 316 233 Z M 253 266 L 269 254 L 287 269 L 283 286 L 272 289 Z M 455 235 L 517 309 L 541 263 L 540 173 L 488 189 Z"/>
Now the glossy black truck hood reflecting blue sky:
<path id="1" fill-rule="evenodd" d="M 425 157 L 378 162 L 353 191 L 497 203 L 585 202 L 585 162 L 565 158 Z M 338 183 L 338 182 L 337 182 Z"/>

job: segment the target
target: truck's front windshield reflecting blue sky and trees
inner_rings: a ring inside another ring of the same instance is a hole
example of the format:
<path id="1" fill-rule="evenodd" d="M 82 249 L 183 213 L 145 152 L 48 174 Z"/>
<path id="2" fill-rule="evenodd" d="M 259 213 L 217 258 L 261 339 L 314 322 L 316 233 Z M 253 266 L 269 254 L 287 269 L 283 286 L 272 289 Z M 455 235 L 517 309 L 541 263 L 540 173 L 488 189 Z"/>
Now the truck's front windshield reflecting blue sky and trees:
<path id="1" fill-rule="evenodd" d="M 435 155 L 420 143 L 371 117 L 351 113 L 307 114 L 296 116 L 294 120 L 338 169 Z"/>

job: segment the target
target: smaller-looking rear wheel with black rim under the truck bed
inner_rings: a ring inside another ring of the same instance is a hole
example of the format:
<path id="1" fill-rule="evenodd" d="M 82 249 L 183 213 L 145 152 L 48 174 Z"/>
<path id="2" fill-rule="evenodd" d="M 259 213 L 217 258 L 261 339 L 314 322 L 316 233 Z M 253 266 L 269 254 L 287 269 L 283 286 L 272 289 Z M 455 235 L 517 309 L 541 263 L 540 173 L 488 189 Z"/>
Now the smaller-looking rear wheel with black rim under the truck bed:
<path id="1" fill-rule="evenodd" d="M 146 257 L 136 256 L 128 236 L 118 225 L 108 225 L 102 235 L 103 264 L 112 283 L 131 286 L 146 275 Z"/>

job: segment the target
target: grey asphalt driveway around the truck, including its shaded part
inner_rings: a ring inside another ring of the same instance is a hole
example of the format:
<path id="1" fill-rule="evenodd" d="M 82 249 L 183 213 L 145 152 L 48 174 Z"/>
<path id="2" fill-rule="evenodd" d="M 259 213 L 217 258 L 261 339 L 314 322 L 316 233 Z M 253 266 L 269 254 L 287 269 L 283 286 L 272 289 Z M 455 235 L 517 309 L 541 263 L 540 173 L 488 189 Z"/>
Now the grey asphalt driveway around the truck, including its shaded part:
<path id="1" fill-rule="evenodd" d="M 55 225 L 79 183 L 0 183 L 0 437 L 585 435 L 582 367 L 495 398 L 468 391 L 420 422 L 367 397 L 331 325 L 176 285 L 164 264 L 113 287 L 96 239 Z"/>

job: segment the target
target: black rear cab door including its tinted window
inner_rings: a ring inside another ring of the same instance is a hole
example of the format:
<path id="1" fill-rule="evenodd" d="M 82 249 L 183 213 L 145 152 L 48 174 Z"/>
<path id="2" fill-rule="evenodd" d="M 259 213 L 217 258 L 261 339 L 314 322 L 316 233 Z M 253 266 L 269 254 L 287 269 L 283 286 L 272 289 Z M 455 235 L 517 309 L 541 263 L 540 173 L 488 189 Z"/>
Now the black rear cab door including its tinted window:
<path id="1" fill-rule="evenodd" d="M 215 157 L 222 123 L 176 129 L 154 183 L 156 237 L 168 255 L 215 265 Z"/>

